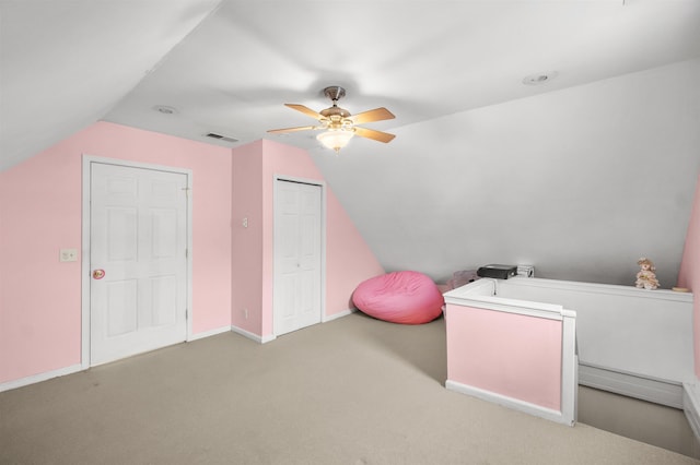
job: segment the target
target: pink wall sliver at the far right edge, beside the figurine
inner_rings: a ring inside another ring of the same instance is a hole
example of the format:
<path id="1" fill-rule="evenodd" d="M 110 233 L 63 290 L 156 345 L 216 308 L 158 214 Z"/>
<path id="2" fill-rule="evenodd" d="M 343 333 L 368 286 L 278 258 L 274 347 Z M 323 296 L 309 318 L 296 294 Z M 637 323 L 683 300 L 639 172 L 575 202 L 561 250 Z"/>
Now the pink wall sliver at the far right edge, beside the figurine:
<path id="1" fill-rule="evenodd" d="M 695 371 L 700 377 L 700 178 L 696 184 L 696 199 L 686 234 L 678 286 L 693 293 Z"/>

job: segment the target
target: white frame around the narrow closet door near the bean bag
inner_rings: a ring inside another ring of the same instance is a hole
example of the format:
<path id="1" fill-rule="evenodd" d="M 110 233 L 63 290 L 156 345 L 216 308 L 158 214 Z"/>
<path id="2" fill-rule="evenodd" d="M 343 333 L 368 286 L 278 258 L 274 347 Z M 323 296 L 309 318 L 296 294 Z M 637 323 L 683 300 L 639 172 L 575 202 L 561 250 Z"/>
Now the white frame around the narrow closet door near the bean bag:
<path id="1" fill-rule="evenodd" d="M 277 243 L 277 225 L 275 218 L 277 215 L 277 207 L 279 201 L 279 194 L 277 192 L 278 181 L 298 182 L 301 184 L 317 186 L 320 188 L 320 322 L 328 321 L 326 317 L 326 182 L 318 179 L 299 178 L 295 176 L 275 175 L 273 179 L 273 199 L 272 199 L 272 337 L 277 337 L 275 331 L 275 318 L 277 308 L 275 306 L 275 279 L 277 278 L 277 250 L 275 245 Z"/>

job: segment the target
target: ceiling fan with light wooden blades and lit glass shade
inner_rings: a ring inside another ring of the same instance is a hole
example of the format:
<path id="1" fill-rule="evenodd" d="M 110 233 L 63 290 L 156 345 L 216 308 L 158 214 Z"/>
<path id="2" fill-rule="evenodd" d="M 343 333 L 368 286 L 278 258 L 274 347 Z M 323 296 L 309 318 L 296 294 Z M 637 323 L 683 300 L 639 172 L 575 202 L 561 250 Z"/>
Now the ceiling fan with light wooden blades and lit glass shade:
<path id="1" fill-rule="evenodd" d="M 320 112 L 314 111 L 304 105 L 284 104 L 296 111 L 301 111 L 306 116 L 315 118 L 318 120 L 318 124 L 303 126 L 299 128 L 271 129 L 267 132 L 280 133 L 320 129 L 324 130 L 324 132 L 318 134 L 316 139 L 326 147 L 332 148 L 336 152 L 339 152 L 340 148 L 345 147 L 353 135 L 384 143 L 390 142 L 395 138 L 394 134 L 389 134 L 388 132 L 375 131 L 373 129 L 355 126 L 365 122 L 383 121 L 396 118 L 386 108 L 381 107 L 363 111 L 358 115 L 350 115 L 350 111 L 338 106 L 338 100 L 346 96 L 345 88 L 337 85 L 326 87 L 324 88 L 324 95 L 332 100 L 332 106 L 325 110 L 320 110 Z"/>

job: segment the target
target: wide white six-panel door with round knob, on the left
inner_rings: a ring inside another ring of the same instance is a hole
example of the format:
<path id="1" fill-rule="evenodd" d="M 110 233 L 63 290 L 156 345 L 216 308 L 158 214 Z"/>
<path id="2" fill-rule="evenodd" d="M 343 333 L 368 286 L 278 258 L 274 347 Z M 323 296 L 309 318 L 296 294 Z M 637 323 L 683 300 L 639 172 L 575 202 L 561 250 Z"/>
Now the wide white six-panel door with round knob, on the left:
<path id="1" fill-rule="evenodd" d="M 90 360 L 187 337 L 187 175 L 91 164 Z"/>

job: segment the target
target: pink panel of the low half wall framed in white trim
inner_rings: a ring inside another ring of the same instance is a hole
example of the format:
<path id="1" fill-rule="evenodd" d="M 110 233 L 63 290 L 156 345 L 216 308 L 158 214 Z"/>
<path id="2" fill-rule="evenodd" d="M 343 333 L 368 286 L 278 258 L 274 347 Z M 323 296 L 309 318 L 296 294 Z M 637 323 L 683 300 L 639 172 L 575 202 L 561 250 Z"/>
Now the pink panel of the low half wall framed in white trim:
<path id="1" fill-rule="evenodd" d="M 561 322 L 447 305 L 447 378 L 561 409 Z"/>

